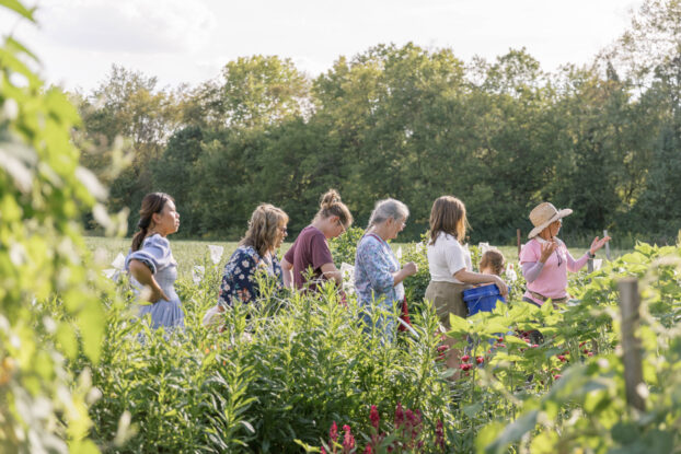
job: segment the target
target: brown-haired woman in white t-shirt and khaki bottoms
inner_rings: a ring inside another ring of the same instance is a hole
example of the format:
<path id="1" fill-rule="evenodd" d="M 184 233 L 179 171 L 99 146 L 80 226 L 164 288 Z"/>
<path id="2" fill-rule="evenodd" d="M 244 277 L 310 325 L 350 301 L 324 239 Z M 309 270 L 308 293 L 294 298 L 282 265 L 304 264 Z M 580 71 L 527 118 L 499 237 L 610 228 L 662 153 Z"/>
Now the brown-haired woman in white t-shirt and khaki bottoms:
<path id="1" fill-rule="evenodd" d="M 501 294 L 508 293 L 506 283 L 496 275 L 474 272 L 471 253 L 462 245 L 468 221 L 465 206 L 452 196 L 442 196 L 432 203 L 430 210 L 430 241 L 428 242 L 428 267 L 430 283 L 426 289 L 426 300 L 435 305 L 440 323 L 449 330 L 449 315 L 468 315 L 463 302 L 463 290 L 474 283 L 495 283 Z M 454 339 L 447 338 L 451 347 Z M 459 351 L 449 349 L 447 365 L 457 368 Z"/>

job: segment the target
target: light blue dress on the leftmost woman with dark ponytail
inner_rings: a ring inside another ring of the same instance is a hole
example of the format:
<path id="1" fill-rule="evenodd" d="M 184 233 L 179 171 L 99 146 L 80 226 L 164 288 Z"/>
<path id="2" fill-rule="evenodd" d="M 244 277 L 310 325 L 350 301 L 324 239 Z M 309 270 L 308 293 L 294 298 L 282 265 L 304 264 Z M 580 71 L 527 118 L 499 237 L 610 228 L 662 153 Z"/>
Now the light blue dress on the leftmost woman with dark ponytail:
<path id="1" fill-rule="evenodd" d="M 176 327 L 184 328 L 184 311 L 174 288 L 177 279 L 177 263 L 173 258 L 170 242 L 158 233 L 148 236 L 139 251 L 128 253 L 125 259 L 126 270 L 128 270 L 131 259 L 139 260 L 151 269 L 154 279 L 170 299 L 170 301 L 161 299 L 154 304 L 140 305 L 139 316 L 143 317 L 146 314 L 151 314 L 151 325 L 154 329 L 161 326 L 166 330 Z M 132 277 L 130 277 L 130 282 L 139 294 L 143 286 Z"/>

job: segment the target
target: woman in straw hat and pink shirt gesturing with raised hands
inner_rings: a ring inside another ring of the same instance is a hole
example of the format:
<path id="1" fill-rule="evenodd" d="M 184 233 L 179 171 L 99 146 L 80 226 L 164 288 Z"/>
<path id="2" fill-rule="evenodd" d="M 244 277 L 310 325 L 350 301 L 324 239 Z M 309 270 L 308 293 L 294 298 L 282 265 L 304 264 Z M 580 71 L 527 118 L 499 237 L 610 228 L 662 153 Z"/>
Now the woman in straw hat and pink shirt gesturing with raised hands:
<path id="1" fill-rule="evenodd" d="M 597 236 L 584 256 L 573 258 L 565 243 L 556 237 L 563 225 L 562 219 L 572 212 L 569 208 L 557 210 L 549 202 L 538 205 L 530 212 L 534 229 L 528 235 L 530 241 L 520 252 L 520 266 L 528 282 L 523 301 L 538 306 L 549 299 L 553 303 L 567 302 L 567 271 L 579 271 L 610 241 L 610 236 Z"/>

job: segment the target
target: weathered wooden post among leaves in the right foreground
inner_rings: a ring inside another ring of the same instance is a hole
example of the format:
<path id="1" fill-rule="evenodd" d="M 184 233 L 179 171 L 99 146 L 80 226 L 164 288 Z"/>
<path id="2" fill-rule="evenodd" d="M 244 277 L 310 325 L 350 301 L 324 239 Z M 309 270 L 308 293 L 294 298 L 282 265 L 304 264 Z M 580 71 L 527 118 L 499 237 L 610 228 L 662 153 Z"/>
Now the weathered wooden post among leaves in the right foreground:
<path id="1" fill-rule="evenodd" d="M 645 411 L 646 403 L 637 389 L 643 384 L 640 340 L 635 336 L 639 319 L 638 280 L 636 278 L 622 279 L 617 282 L 617 288 L 622 312 L 622 360 L 626 401 L 631 407 Z"/>

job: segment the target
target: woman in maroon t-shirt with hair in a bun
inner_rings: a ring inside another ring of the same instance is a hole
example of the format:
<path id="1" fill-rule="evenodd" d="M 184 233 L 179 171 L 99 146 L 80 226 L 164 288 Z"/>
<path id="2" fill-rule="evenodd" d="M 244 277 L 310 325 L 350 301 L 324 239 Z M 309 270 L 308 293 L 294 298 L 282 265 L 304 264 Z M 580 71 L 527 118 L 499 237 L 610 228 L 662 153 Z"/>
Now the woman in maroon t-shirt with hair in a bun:
<path id="1" fill-rule="evenodd" d="M 340 201 L 340 195 L 335 189 L 328 189 L 322 196 L 320 210 L 312 223 L 300 232 L 284 256 L 281 267 L 286 287 L 295 284 L 297 289 L 314 290 L 319 282 L 333 279 L 340 289 L 343 276 L 334 265 L 327 240 L 340 235 L 351 224 L 353 214 Z M 310 273 L 312 279 L 308 281 Z"/>

